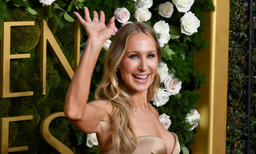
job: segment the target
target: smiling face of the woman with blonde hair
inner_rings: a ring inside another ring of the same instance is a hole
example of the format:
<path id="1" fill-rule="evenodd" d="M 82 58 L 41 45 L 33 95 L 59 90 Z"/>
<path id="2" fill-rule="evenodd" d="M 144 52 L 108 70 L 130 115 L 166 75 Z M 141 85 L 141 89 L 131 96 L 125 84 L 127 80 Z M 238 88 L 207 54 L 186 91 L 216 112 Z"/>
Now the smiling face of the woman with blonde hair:
<path id="1" fill-rule="evenodd" d="M 124 84 L 135 92 L 147 91 L 157 66 L 157 47 L 153 39 L 144 33 L 132 35 L 119 68 Z"/>

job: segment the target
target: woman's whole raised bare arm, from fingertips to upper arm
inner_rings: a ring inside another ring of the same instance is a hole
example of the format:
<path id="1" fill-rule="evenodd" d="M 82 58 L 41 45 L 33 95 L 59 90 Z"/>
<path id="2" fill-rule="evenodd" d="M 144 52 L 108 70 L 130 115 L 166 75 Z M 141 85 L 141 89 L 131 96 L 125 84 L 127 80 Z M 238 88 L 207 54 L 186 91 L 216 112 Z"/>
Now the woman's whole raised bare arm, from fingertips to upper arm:
<path id="1" fill-rule="evenodd" d="M 68 88 L 64 113 L 65 116 L 78 127 L 83 127 L 80 126 L 81 122 L 88 122 L 90 123 L 91 127 L 96 127 L 105 116 L 105 111 L 104 109 L 98 107 L 97 103 L 96 105 L 95 103 L 86 105 L 86 102 L 89 96 L 91 77 L 99 53 L 104 42 L 114 32 L 114 18 L 110 19 L 109 27 L 106 28 L 105 15 L 102 11 L 100 13 L 99 22 L 91 21 L 88 8 L 84 8 L 84 13 L 85 20 L 77 12 L 75 12 L 75 15 L 85 28 L 88 39 L 79 65 Z M 98 19 L 98 14 L 96 11 L 93 11 L 93 18 Z M 89 128 L 89 131 L 90 130 L 91 129 Z"/>

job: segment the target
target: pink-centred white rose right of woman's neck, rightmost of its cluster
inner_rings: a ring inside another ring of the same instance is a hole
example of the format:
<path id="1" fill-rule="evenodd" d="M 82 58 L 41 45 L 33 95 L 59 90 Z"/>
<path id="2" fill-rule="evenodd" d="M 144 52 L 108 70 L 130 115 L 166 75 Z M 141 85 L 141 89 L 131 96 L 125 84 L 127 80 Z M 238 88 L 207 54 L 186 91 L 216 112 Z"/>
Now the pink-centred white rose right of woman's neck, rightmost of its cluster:
<path id="1" fill-rule="evenodd" d="M 180 92 L 182 82 L 178 78 L 173 78 L 172 74 L 169 74 L 164 84 L 167 92 L 171 95 L 176 95 Z"/>

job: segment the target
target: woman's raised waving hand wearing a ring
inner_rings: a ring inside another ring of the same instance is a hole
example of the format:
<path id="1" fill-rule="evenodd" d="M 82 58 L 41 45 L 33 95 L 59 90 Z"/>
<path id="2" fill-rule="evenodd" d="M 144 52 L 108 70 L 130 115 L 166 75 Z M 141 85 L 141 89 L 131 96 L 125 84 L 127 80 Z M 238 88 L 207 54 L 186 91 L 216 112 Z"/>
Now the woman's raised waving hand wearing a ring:
<path id="1" fill-rule="evenodd" d="M 99 22 L 91 21 L 89 10 L 87 7 L 84 7 L 84 14 L 85 20 L 78 14 L 78 12 L 75 12 L 75 15 L 79 19 L 79 22 L 83 25 L 84 29 L 87 32 L 88 39 L 102 41 L 104 43 L 114 33 L 114 17 L 109 20 L 109 27 L 106 28 L 105 14 L 103 11 L 101 11 L 100 13 L 100 18 L 98 17 L 98 13 L 96 11 L 93 11 L 93 18 L 99 18 Z"/>

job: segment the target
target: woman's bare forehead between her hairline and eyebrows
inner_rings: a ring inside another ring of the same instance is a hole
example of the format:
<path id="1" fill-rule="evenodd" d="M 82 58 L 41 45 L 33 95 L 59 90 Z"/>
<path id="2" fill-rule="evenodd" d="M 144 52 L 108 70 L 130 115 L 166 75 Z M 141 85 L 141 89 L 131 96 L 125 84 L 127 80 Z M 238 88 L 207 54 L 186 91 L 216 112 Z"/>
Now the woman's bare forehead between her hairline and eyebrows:
<path id="1" fill-rule="evenodd" d="M 127 41 L 125 51 L 151 51 L 157 52 L 154 40 L 145 33 L 133 34 Z"/>

